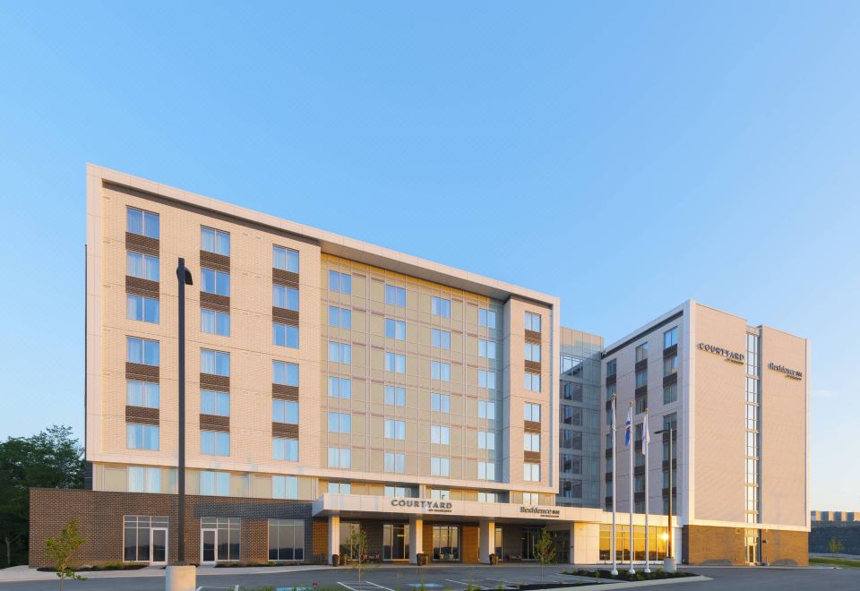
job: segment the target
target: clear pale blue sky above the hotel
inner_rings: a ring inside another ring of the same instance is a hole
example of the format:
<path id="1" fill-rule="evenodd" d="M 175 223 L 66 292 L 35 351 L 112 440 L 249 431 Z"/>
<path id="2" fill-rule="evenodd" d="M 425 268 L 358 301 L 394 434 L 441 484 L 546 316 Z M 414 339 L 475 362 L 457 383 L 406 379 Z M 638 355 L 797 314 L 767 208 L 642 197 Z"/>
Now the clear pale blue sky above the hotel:
<path id="1" fill-rule="evenodd" d="M 811 338 L 813 507 L 860 510 L 860 4 L 126 4 L 0 3 L 0 437 L 82 434 L 90 161 L 608 340 L 688 297 Z"/>

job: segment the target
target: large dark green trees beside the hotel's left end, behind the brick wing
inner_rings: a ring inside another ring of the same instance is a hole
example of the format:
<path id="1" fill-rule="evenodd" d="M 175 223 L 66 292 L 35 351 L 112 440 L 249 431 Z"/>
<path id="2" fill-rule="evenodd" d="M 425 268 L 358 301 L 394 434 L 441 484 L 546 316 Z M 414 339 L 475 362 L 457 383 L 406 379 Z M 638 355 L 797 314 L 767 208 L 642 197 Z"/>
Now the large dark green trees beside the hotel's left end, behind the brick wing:
<path id="1" fill-rule="evenodd" d="M 0 441 L 0 543 L 5 566 L 27 562 L 30 488 L 83 488 L 82 457 L 83 449 L 67 426 Z"/>

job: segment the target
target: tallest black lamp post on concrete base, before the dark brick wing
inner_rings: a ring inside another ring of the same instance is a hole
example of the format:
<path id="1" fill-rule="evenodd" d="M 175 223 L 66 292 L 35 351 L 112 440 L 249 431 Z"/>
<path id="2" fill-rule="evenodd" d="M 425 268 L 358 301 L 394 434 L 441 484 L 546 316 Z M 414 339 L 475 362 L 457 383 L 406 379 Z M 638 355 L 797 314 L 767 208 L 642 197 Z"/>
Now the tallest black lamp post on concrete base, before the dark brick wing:
<path id="1" fill-rule="evenodd" d="M 176 267 L 179 296 L 179 467 L 177 474 L 177 521 L 179 531 L 176 535 L 176 562 L 168 566 L 165 577 L 167 591 L 193 591 L 196 588 L 197 572 L 193 565 L 185 562 L 185 286 L 193 285 L 191 271 L 185 267 L 185 259 L 180 257 Z"/>

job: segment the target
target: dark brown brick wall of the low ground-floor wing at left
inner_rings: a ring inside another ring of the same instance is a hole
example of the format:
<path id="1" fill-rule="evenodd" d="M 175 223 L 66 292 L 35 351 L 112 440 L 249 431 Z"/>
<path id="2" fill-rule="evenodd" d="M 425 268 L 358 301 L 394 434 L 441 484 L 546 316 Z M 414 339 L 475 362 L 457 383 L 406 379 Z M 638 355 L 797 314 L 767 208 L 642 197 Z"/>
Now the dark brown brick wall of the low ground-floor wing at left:
<path id="1" fill-rule="evenodd" d="M 185 497 L 185 561 L 200 560 L 200 518 L 241 518 L 241 560 L 269 558 L 267 520 L 305 520 L 305 561 L 322 561 L 316 555 L 308 501 L 245 499 L 235 497 Z M 168 517 L 168 553 L 176 560 L 176 495 L 144 492 L 30 489 L 30 566 L 47 566 L 45 540 L 59 535 L 70 519 L 78 520 L 85 542 L 75 555 L 78 564 L 123 560 L 125 515 Z M 312 551 L 313 549 L 313 551 Z"/>

